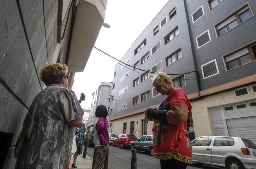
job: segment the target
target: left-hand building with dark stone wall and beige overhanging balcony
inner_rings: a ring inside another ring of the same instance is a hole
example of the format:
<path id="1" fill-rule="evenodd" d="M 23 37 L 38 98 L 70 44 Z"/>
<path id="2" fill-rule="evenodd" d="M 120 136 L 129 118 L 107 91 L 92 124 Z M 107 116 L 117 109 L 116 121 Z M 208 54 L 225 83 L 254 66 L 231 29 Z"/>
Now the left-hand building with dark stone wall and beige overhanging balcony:
<path id="1" fill-rule="evenodd" d="M 18 133 L 31 102 L 45 87 L 39 69 L 47 62 L 65 63 L 71 88 L 74 74 L 85 68 L 106 5 L 107 0 L 1 0 L 0 168 L 15 167 Z"/>

